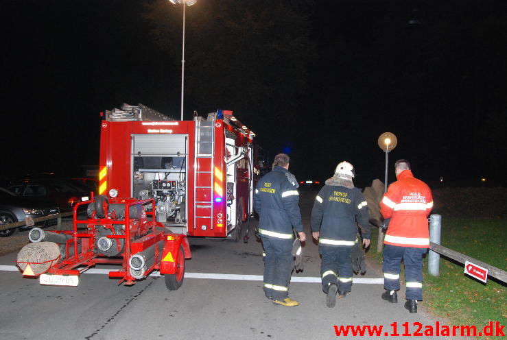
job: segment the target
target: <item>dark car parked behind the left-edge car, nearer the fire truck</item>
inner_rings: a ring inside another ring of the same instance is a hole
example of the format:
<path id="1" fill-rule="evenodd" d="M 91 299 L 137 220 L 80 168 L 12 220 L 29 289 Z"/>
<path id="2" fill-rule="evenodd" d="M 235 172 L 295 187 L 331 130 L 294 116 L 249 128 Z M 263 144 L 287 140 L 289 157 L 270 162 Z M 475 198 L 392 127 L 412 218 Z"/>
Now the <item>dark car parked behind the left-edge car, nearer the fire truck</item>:
<path id="1" fill-rule="evenodd" d="M 16 195 L 34 200 L 56 202 L 60 211 L 72 210 L 74 204 L 87 201 L 92 191 L 89 187 L 66 178 L 26 178 L 23 182 L 9 186 Z"/>

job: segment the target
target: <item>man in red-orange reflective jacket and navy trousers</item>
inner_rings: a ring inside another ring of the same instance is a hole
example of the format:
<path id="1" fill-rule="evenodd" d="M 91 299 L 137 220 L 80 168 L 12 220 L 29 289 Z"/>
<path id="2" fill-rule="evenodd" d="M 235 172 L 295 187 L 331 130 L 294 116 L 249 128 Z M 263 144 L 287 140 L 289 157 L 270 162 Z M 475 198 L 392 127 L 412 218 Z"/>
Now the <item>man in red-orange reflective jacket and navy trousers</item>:
<path id="1" fill-rule="evenodd" d="M 433 208 L 432 191 L 414 178 L 408 160 L 394 164 L 397 182 L 389 186 L 380 202 L 384 219 L 390 218 L 384 239 L 384 289 L 382 299 L 397 303 L 401 260 L 405 263 L 405 308 L 417 313 L 417 300 L 423 300 L 423 255 L 429 248 L 427 217 Z"/>

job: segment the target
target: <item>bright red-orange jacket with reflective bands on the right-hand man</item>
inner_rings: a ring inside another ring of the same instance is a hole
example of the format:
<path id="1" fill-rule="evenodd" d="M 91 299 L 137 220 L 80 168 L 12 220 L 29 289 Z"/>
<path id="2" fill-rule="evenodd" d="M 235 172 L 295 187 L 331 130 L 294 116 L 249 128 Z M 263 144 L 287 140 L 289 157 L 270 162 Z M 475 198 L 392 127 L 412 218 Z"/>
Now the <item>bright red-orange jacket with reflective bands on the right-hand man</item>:
<path id="1" fill-rule="evenodd" d="M 412 171 L 398 175 L 380 202 L 384 219 L 391 218 L 384 243 L 400 247 L 429 247 L 427 217 L 433 208 L 432 191 Z"/>

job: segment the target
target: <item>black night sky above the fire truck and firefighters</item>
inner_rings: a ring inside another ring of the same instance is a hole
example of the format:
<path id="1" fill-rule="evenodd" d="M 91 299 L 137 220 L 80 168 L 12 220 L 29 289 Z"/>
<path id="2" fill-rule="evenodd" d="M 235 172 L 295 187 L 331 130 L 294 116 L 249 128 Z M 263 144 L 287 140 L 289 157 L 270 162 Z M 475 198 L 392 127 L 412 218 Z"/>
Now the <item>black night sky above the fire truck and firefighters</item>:
<path id="1" fill-rule="evenodd" d="M 97 165 L 99 112 L 123 102 L 179 117 L 181 5 L 1 12 L 1 175 Z M 383 180 L 377 138 L 393 132 L 390 164 L 407 158 L 430 184 L 507 184 L 506 1 L 198 0 L 186 34 L 185 118 L 233 110 L 299 180 L 341 160 L 357 186 Z"/>

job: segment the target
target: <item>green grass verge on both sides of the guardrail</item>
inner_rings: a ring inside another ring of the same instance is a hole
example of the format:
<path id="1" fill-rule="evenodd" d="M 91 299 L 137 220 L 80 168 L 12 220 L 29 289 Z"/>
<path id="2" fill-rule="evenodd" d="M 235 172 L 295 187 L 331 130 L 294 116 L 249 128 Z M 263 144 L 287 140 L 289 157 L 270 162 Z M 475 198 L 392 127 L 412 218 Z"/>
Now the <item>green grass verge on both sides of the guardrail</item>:
<path id="1" fill-rule="evenodd" d="M 442 223 L 443 246 L 507 269 L 507 220 L 443 218 Z M 381 254 L 377 254 L 377 230 L 372 230 L 371 241 L 369 256 L 381 262 Z M 505 283 L 488 278 L 488 283 L 483 284 L 466 276 L 463 265 L 446 258 L 440 258 L 440 276 L 427 274 L 427 259 L 423 273 L 423 304 L 434 315 L 445 317 L 456 325 L 475 325 L 477 329 L 489 321 L 507 326 Z"/>

